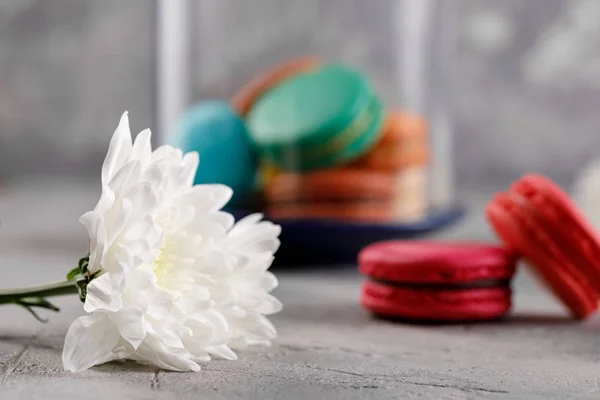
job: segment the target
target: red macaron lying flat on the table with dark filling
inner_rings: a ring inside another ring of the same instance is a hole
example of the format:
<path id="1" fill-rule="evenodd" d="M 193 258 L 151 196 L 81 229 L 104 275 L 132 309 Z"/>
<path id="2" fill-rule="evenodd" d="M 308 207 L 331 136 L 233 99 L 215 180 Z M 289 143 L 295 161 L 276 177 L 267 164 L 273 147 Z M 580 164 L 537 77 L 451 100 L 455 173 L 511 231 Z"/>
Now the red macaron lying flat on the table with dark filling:
<path id="1" fill-rule="evenodd" d="M 517 257 L 481 243 L 388 241 L 359 254 L 368 280 L 362 305 L 376 315 L 424 322 L 493 320 L 511 307 Z"/>

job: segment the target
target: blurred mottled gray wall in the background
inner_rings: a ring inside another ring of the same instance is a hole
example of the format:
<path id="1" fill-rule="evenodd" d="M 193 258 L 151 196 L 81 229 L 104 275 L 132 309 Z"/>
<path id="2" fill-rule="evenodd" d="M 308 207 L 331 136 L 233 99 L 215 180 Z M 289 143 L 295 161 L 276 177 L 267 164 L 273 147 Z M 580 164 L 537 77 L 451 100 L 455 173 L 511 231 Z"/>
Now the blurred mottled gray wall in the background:
<path id="1" fill-rule="evenodd" d="M 369 71 L 401 102 L 393 0 L 205 0 L 199 97 L 225 97 L 281 57 L 313 51 Z M 456 0 L 452 76 L 459 182 L 524 171 L 562 182 L 600 154 L 600 2 Z M 344 5 L 344 6 L 342 6 Z M 154 2 L 0 1 L 0 178 L 97 174 L 120 113 L 152 124 Z"/>

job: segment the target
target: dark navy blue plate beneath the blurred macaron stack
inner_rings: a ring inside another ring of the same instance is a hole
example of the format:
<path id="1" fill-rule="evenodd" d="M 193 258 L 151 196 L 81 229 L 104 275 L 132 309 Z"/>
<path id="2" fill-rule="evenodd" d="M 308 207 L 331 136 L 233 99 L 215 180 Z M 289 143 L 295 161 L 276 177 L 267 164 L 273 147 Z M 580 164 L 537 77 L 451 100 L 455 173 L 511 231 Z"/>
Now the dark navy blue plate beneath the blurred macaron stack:
<path id="1" fill-rule="evenodd" d="M 236 220 L 248 215 L 247 210 L 228 210 Z M 356 264 L 358 252 L 381 240 L 413 239 L 458 221 L 464 209 L 455 206 L 432 211 L 414 222 L 397 224 L 353 223 L 321 219 L 272 220 L 281 225 L 281 247 L 275 257 L 276 266 Z"/>

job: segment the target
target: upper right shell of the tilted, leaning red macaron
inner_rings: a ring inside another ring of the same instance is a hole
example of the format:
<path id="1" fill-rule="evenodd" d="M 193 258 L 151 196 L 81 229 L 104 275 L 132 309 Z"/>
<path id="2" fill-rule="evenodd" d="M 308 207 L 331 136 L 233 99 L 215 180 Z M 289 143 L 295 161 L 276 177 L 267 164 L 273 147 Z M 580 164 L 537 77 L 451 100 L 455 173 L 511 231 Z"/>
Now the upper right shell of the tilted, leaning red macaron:
<path id="1" fill-rule="evenodd" d="M 526 175 L 511 190 L 527 199 L 555 242 L 600 291 L 600 238 L 569 196 L 539 175 Z"/>

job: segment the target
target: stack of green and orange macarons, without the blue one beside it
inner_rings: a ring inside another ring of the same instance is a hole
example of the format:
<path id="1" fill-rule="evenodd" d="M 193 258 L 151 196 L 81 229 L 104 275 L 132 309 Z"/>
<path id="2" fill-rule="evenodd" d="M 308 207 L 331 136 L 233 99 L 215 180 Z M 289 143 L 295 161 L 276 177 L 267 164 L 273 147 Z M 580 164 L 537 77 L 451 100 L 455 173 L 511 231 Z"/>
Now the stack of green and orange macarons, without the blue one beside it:
<path id="1" fill-rule="evenodd" d="M 385 223 L 426 212 L 426 121 L 386 110 L 360 71 L 295 59 L 232 104 L 257 149 L 271 217 Z"/>

